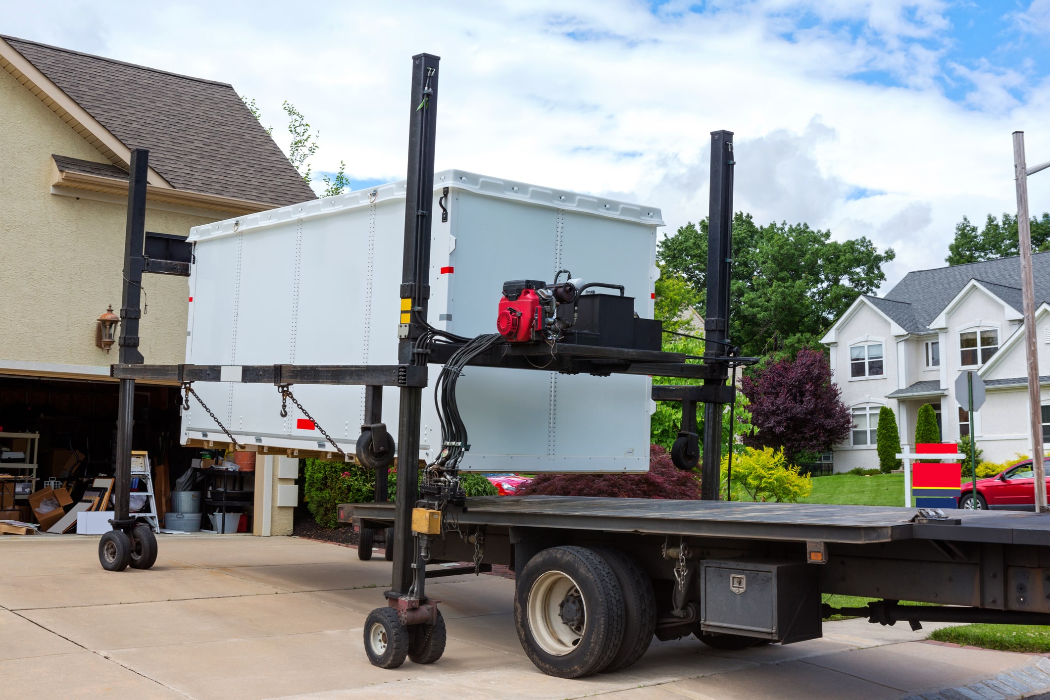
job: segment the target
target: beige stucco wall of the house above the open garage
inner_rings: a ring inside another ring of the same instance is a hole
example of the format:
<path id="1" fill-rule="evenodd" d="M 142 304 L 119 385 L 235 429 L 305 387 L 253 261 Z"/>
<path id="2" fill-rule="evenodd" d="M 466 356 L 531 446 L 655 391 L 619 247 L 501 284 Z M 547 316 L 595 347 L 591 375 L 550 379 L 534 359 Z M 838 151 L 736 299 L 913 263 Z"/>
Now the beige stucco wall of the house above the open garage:
<path id="1" fill-rule="evenodd" d="M 124 201 L 51 194 L 51 154 L 106 163 L 55 112 L 0 70 L 0 298 L 17 317 L 0 334 L 0 365 L 30 374 L 104 375 L 116 354 L 94 345 L 96 319 L 121 304 Z M 222 213 L 187 213 L 150 203 L 146 230 L 188 235 Z M 56 283 L 61 280 L 62 283 Z M 141 322 L 147 362 L 182 362 L 185 277 L 146 275 Z"/>

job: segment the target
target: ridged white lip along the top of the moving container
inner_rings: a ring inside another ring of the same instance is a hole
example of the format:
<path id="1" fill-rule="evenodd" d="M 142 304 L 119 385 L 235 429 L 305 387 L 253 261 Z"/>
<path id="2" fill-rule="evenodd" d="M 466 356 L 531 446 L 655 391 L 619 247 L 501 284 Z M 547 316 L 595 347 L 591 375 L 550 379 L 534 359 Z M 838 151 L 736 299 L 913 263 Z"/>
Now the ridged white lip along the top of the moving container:
<path id="1" fill-rule="evenodd" d="M 527 204 L 575 211 L 621 221 L 645 224 L 648 226 L 664 226 L 663 213 L 656 207 L 618 201 L 592 194 L 570 192 L 539 185 L 529 185 L 512 179 L 480 175 L 466 170 L 441 170 L 434 173 L 434 189 L 442 188 L 464 190 L 485 196 L 524 201 Z M 213 224 L 195 226 L 190 229 L 188 240 L 196 242 L 217 237 L 244 233 L 252 229 L 262 229 L 287 221 L 327 216 L 339 211 L 361 209 L 374 204 L 391 199 L 403 199 L 406 183 L 399 179 L 376 187 L 365 188 L 337 194 L 334 197 L 311 199 L 301 204 L 289 205 L 278 209 L 246 214 Z"/>

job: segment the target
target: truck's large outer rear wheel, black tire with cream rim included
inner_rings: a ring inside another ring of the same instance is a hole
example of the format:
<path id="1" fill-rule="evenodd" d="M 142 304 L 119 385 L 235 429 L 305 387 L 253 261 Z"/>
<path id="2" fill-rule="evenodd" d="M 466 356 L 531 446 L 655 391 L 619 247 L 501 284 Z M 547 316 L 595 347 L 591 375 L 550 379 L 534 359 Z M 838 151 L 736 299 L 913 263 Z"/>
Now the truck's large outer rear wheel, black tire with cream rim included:
<path id="1" fill-rule="evenodd" d="M 529 559 L 514 590 L 514 627 L 526 656 L 558 678 L 597 673 L 624 638 L 616 575 L 584 547 L 551 547 Z"/>

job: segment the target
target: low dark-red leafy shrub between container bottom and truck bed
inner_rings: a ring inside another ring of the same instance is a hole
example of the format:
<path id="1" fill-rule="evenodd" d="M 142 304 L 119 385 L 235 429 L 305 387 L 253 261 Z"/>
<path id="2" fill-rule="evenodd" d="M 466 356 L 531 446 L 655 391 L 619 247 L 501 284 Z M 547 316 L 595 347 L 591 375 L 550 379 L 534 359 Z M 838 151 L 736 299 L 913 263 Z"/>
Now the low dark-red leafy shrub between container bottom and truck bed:
<path id="1" fill-rule="evenodd" d="M 540 474 L 518 489 L 518 495 L 590 495 L 607 499 L 676 499 L 699 501 L 699 475 L 682 471 L 659 445 L 649 452 L 643 474 Z"/>

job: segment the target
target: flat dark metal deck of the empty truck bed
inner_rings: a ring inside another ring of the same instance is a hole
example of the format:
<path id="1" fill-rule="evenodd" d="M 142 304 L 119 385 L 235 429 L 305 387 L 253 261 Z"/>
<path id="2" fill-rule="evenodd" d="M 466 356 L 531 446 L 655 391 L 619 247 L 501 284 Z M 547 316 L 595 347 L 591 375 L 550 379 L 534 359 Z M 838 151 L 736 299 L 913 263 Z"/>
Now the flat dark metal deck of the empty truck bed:
<path id="1" fill-rule="evenodd" d="M 946 511 L 944 523 L 912 523 L 915 508 L 824 504 L 654 501 L 586 496 L 467 499 L 461 525 L 544 527 L 607 532 L 819 539 L 867 544 L 942 539 L 1004 545 L 1050 545 L 1050 514 Z M 394 521 L 393 503 L 356 504 L 354 519 Z"/>

